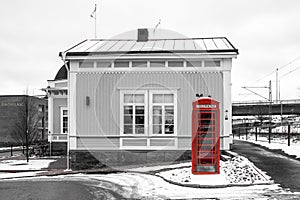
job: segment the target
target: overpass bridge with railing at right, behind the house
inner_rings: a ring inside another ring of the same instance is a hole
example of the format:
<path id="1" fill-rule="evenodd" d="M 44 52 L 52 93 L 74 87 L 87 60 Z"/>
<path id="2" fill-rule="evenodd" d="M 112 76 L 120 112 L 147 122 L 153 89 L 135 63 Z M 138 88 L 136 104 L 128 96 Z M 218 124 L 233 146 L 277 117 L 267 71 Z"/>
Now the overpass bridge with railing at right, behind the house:
<path id="1" fill-rule="evenodd" d="M 270 102 L 233 102 L 233 116 L 269 115 Z M 272 115 L 300 115 L 300 99 L 271 102 Z"/>

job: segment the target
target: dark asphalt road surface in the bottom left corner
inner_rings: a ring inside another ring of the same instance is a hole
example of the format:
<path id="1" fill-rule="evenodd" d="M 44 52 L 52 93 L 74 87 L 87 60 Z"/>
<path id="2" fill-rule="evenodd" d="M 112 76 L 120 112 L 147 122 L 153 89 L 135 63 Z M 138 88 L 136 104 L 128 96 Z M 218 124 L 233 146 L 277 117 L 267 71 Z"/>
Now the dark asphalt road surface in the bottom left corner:
<path id="1" fill-rule="evenodd" d="M 105 188 L 84 180 L 28 179 L 0 182 L 1 200 L 91 200 L 123 199 Z"/>

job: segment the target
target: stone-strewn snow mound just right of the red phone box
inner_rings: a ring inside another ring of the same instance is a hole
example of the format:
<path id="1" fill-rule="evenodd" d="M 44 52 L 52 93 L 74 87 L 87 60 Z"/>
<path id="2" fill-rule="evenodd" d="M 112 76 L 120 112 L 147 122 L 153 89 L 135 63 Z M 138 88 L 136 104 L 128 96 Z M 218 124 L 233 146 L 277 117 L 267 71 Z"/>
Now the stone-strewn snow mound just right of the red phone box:
<path id="1" fill-rule="evenodd" d="M 243 156 L 236 156 L 223 162 L 222 170 L 226 179 L 233 184 L 266 183 L 271 179 Z"/>

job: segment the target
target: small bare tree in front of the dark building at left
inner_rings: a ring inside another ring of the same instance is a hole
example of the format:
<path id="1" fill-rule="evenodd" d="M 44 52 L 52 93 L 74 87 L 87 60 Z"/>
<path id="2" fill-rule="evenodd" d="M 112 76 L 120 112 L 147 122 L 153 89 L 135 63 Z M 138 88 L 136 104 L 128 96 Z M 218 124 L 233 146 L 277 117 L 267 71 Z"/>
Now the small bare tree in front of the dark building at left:
<path id="1" fill-rule="evenodd" d="M 38 139 L 39 125 L 42 115 L 39 113 L 39 107 L 28 96 L 23 98 L 23 106 L 18 107 L 16 111 L 16 120 L 12 128 L 12 137 L 16 142 L 26 146 L 26 158 L 29 159 L 29 146 Z"/>

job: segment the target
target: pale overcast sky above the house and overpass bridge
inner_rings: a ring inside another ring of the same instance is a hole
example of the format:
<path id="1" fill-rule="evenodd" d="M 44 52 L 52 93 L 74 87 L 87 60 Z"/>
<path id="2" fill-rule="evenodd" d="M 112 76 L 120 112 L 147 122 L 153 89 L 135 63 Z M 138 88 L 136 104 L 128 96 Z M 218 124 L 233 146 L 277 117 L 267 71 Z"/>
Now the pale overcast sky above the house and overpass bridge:
<path id="1" fill-rule="evenodd" d="M 154 28 L 159 19 L 160 28 L 187 37 L 225 36 L 240 53 L 233 61 L 234 101 L 263 100 L 241 87 L 268 86 L 271 79 L 275 99 L 276 68 L 281 99 L 300 98 L 299 0 L 2 0 L 0 95 L 24 94 L 26 87 L 41 93 L 62 65 L 58 53 L 94 37 L 95 3 L 98 38 Z M 268 96 L 267 89 L 255 91 Z"/>

